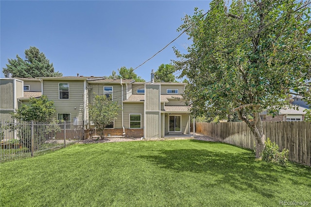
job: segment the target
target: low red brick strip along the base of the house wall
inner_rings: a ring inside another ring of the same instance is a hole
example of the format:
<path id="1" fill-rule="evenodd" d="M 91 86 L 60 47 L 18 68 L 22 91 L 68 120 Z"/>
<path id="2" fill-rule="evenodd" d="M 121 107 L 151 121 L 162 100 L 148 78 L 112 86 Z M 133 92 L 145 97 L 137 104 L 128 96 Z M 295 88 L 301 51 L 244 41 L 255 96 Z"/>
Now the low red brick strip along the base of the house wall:
<path id="1" fill-rule="evenodd" d="M 141 138 L 144 136 L 144 130 L 143 129 L 124 129 L 125 131 L 125 137 L 126 138 Z M 93 135 L 95 135 L 94 129 L 87 129 L 86 132 L 86 138 L 91 138 Z M 96 135 L 98 135 L 98 131 L 96 130 Z M 123 129 L 105 129 L 105 137 L 108 136 L 123 136 Z M 88 135 L 88 136 L 87 136 Z"/>

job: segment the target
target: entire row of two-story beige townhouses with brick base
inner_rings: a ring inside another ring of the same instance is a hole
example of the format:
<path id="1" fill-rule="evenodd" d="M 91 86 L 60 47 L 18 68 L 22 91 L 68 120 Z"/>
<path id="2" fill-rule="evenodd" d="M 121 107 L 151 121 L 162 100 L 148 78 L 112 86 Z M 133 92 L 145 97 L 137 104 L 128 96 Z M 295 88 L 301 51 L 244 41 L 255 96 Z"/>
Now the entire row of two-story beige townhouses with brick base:
<path id="1" fill-rule="evenodd" d="M 37 77 L 1 79 L 1 116 L 14 112 L 18 103 L 29 104 L 29 98 L 46 95 L 54 102 L 57 120 L 68 121 L 71 129 L 92 129 L 88 104 L 94 95 L 106 95 L 120 104 L 118 116 L 107 126 L 106 135 L 136 138 L 161 138 L 190 134 L 189 106 L 182 99 L 184 83 L 137 83 L 134 80 L 104 77 Z M 8 89 L 8 87 L 10 87 Z M 12 92 L 6 92 L 10 90 Z M 2 95 L 1 95 L 2 97 Z M 3 103 L 2 103 L 3 102 Z M 9 103 L 12 106 L 7 106 Z M 5 113 L 3 112 L 5 111 Z"/>

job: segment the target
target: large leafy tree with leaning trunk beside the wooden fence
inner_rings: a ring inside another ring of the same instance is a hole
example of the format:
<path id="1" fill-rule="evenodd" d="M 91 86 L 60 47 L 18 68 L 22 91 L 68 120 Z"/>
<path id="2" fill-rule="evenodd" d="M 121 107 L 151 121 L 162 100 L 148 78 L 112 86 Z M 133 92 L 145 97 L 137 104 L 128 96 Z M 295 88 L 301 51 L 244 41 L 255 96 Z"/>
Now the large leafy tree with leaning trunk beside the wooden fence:
<path id="1" fill-rule="evenodd" d="M 186 16 L 179 30 L 193 41 L 175 51 L 188 84 L 192 113 L 226 118 L 233 111 L 255 137 L 256 157 L 265 135 L 259 113 L 290 105 L 289 93 L 305 91 L 310 79 L 310 2 L 213 0 L 204 15 Z"/>

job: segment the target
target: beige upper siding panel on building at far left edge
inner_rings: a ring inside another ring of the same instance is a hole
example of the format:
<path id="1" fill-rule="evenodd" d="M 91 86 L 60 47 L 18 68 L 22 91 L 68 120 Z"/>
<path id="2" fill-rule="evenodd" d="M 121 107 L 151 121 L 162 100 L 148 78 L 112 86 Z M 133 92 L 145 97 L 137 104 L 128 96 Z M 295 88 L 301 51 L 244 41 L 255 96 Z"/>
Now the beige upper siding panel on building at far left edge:
<path id="1" fill-rule="evenodd" d="M 14 108 L 14 79 L 0 80 L 0 108 Z"/>

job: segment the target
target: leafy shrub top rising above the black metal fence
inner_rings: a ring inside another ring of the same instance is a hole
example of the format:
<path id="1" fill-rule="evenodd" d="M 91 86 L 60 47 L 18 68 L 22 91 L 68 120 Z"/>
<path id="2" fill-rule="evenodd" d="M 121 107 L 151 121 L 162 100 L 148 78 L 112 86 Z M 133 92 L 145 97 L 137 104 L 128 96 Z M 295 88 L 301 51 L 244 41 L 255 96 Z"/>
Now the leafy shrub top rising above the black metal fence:
<path id="1" fill-rule="evenodd" d="M 31 105 L 21 104 L 11 116 L 13 119 L 22 121 L 51 121 L 55 113 L 54 102 L 49 101 L 46 95 L 39 99 L 30 98 Z"/>

